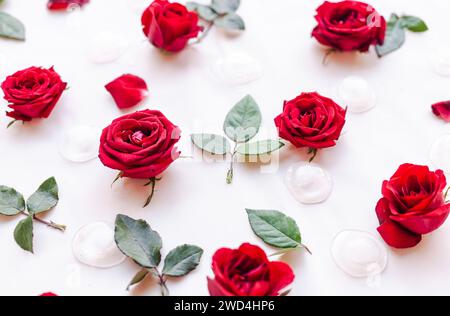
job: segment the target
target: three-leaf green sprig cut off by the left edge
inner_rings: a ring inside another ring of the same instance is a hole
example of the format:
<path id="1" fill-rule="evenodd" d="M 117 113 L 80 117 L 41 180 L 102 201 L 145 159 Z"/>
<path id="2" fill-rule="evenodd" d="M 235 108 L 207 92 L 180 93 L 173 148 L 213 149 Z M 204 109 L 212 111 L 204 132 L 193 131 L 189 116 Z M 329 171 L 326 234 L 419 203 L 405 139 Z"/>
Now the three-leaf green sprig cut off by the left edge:
<path id="1" fill-rule="evenodd" d="M 53 209 L 59 201 L 58 184 L 54 177 L 44 181 L 33 195 L 25 203 L 23 195 L 15 189 L 0 186 L 0 215 L 4 216 L 26 216 L 21 220 L 15 230 L 14 239 L 25 251 L 33 253 L 33 223 L 34 221 L 47 225 L 48 227 L 64 232 L 66 226 L 47 222 L 37 215 Z"/>

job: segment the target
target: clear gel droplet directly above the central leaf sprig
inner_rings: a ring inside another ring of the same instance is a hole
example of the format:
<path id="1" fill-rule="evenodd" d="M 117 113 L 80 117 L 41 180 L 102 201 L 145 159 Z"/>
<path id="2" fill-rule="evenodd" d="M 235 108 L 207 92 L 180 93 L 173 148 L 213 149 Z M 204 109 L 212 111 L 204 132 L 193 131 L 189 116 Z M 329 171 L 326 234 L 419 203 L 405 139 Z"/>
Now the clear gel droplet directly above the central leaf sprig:
<path id="1" fill-rule="evenodd" d="M 226 84 L 253 82 L 264 75 L 258 61 L 243 53 L 232 53 L 217 60 L 211 67 L 213 76 Z"/>

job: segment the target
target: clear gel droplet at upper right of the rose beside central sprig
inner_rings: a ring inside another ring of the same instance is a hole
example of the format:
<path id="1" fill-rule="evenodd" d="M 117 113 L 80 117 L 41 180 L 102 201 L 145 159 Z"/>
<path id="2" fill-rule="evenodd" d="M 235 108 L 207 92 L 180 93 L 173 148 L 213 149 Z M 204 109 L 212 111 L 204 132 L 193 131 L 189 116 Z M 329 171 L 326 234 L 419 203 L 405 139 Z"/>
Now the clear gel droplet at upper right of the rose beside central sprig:
<path id="1" fill-rule="evenodd" d="M 350 112 L 362 113 L 375 107 L 375 92 L 369 83 L 360 77 L 348 77 L 342 80 L 338 87 L 338 96 L 341 106 L 347 107 Z"/>

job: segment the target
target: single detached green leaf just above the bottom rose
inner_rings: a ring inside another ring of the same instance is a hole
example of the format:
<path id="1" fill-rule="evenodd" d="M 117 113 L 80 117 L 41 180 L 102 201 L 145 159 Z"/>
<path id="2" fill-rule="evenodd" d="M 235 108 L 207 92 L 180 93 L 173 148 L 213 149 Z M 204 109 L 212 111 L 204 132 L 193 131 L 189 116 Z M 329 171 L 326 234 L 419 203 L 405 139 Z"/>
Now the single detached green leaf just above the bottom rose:
<path id="1" fill-rule="evenodd" d="M 302 237 L 296 222 L 278 211 L 247 209 L 253 232 L 266 244 L 281 249 L 301 246 Z"/>

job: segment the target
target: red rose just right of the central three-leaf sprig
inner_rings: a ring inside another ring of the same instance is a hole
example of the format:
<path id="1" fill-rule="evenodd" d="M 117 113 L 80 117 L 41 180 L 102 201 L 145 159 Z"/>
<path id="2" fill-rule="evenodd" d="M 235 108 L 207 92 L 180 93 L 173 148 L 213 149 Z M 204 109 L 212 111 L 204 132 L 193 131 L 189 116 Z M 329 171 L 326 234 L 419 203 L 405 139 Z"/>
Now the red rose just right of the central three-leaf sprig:
<path id="1" fill-rule="evenodd" d="M 336 145 L 345 125 L 346 110 L 318 93 L 302 93 L 284 102 L 283 113 L 275 118 L 281 138 L 296 147 L 311 149 Z"/>

